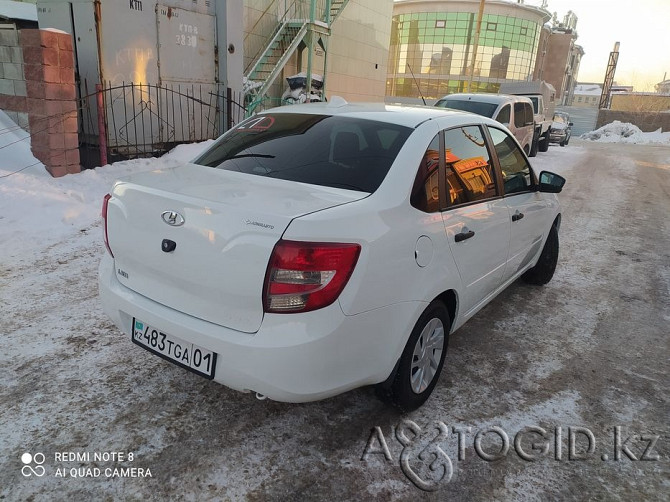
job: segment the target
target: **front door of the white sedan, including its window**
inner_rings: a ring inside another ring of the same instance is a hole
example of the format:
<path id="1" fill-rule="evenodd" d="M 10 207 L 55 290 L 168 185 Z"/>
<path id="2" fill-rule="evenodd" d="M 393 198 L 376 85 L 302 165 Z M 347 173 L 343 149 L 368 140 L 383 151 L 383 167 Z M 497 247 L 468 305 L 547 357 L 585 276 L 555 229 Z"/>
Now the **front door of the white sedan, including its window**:
<path id="1" fill-rule="evenodd" d="M 549 228 L 549 207 L 536 190 L 528 159 L 506 131 L 487 126 L 502 173 L 504 201 L 511 224 L 510 246 L 503 282 L 514 277 L 542 248 Z"/>

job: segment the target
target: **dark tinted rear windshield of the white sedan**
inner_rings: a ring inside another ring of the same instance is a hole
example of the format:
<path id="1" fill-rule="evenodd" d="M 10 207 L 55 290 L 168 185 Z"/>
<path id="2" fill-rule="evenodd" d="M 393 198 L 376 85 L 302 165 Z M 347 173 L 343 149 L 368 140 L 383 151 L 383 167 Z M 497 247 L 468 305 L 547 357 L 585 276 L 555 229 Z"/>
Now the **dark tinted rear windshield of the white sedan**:
<path id="1" fill-rule="evenodd" d="M 385 122 L 331 115 L 259 115 L 226 133 L 194 162 L 372 193 L 411 132 Z"/>

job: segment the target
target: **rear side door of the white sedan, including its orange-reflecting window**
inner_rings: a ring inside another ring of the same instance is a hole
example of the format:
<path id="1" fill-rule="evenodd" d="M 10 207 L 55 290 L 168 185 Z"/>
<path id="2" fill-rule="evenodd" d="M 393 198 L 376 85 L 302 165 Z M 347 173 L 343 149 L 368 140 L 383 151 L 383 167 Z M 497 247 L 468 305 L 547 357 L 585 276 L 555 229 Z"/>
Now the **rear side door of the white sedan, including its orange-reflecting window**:
<path id="1" fill-rule="evenodd" d="M 461 277 L 461 309 L 468 315 L 501 284 L 510 219 L 480 126 L 443 131 L 446 209 L 442 219 Z"/>

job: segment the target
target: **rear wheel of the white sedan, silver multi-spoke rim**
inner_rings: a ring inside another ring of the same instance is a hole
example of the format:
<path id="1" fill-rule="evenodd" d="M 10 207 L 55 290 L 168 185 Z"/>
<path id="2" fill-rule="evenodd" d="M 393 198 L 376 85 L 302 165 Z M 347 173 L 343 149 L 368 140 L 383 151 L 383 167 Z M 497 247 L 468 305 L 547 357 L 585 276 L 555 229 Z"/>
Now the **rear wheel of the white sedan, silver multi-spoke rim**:
<path id="1" fill-rule="evenodd" d="M 440 379 L 450 329 L 444 304 L 437 300 L 430 303 L 414 325 L 395 374 L 377 386 L 377 395 L 402 412 L 425 403 Z"/>

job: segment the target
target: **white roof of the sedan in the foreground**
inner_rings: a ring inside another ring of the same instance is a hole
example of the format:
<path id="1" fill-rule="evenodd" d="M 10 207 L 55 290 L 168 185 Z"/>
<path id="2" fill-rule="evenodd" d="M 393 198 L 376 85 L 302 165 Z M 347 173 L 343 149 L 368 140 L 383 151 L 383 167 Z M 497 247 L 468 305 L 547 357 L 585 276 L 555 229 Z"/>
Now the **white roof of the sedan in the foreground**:
<path id="1" fill-rule="evenodd" d="M 458 110 L 447 110 L 445 108 L 420 105 L 348 103 L 337 96 L 331 98 L 331 101 L 327 103 L 304 103 L 299 105 L 280 106 L 262 112 L 262 114 L 268 113 L 334 115 L 363 120 L 376 120 L 411 128 L 416 128 L 427 120 L 449 116 L 454 119 L 454 124 L 462 122 L 466 117 L 469 122 L 472 122 L 471 113 Z"/>

